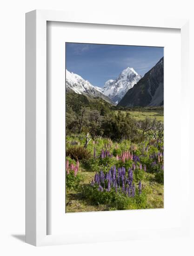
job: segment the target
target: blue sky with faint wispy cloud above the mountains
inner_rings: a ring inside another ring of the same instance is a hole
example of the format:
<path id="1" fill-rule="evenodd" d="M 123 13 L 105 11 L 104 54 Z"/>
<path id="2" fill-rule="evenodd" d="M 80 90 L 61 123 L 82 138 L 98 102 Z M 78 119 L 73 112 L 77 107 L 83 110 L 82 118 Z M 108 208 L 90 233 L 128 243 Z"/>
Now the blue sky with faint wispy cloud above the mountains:
<path id="1" fill-rule="evenodd" d="M 99 87 L 127 67 L 144 75 L 163 56 L 163 47 L 66 43 L 67 70 Z"/>

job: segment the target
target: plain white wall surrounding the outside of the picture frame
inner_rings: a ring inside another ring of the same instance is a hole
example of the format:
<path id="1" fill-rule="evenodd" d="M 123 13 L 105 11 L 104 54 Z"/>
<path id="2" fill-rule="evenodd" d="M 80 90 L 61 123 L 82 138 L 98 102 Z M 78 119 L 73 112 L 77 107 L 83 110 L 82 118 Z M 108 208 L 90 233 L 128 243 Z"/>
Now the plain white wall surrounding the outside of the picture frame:
<path id="1" fill-rule="evenodd" d="M 33 9 L 190 19 L 190 101 L 194 97 L 192 0 L 4 0 L 0 4 L 0 255 L 194 255 L 194 234 L 180 239 L 35 248 L 25 233 L 25 13 Z M 192 113 L 192 111 L 191 111 Z M 191 116 L 191 131 L 194 130 Z M 193 141 L 193 136 L 191 137 Z M 194 141 L 193 141 L 194 142 Z M 192 157 L 192 147 L 190 148 Z M 184 156 L 182 156 L 184 157 Z M 183 170 L 184 171 L 184 170 Z M 194 183 L 191 169 L 191 185 Z M 184 185 L 183 185 L 184 186 Z M 194 202 L 193 189 L 191 201 Z M 191 214 L 194 208 L 191 202 Z M 180 206 L 181 207 L 181 206 Z M 194 215 L 193 215 L 194 216 Z M 193 225 L 193 220 L 191 220 Z M 122 235 L 122 234 L 120 234 Z"/>

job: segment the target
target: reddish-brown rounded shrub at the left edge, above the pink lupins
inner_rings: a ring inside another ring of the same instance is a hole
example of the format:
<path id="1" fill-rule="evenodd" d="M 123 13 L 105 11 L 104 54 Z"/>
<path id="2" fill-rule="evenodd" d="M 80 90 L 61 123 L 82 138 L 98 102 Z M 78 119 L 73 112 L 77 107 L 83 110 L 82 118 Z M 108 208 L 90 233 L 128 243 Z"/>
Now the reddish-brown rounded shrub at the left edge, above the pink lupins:
<path id="1" fill-rule="evenodd" d="M 66 155 L 75 160 L 88 160 L 91 157 L 90 152 L 82 146 L 71 146 L 67 148 Z"/>

